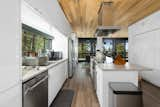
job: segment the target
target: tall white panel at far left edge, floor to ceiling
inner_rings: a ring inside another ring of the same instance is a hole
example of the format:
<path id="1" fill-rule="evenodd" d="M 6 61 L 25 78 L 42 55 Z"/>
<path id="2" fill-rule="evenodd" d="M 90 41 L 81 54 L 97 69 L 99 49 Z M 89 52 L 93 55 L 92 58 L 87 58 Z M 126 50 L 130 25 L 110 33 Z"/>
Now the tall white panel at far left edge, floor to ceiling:
<path id="1" fill-rule="evenodd" d="M 22 107 L 20 0 L 0 8 L 0 107 Z"/>

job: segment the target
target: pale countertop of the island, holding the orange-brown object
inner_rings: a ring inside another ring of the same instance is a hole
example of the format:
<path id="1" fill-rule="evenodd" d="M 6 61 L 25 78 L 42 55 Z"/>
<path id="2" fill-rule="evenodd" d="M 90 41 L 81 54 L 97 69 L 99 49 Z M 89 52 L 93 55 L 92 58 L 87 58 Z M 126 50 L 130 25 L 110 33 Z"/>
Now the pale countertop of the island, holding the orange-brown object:
<path id="1" fill-rule="evenodd" d="M 130 64 L 128 62 L 125 65 L 115 65 L 113 63 L 110 64 L 99 63 L 97 64 L 97 66 L 103 71 L 151 71 L 152 70 L 139 65 Z"/>

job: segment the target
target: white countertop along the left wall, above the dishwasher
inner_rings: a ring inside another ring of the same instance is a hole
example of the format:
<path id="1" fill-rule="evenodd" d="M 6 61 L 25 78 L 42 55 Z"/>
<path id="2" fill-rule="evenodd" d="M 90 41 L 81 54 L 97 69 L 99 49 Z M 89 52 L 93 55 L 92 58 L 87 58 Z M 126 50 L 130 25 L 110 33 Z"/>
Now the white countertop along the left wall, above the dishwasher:
<path id="1" fill-rule="evenodd" d="M 42 72 L 46 72 L 46 71 L 48 71 L 48 69 L 53 68 L 56 65 L 66 61 L 66 60 L 68 60 L 68 59 L 65 58 L 65 59 L 57 60 L 57 61 L 49 61 L 49 63 L 51 63 L 51 64 L 49 64 L 48 66 L 36 66 L 34 68 L 31 66 L 23 66 L 22 69 L 25 67 L 27 67 L 27 69 L 22 70 L 22 81 L 26 82 L 29 79 L 35 77 L 36 75 L 39 75 Z"/>

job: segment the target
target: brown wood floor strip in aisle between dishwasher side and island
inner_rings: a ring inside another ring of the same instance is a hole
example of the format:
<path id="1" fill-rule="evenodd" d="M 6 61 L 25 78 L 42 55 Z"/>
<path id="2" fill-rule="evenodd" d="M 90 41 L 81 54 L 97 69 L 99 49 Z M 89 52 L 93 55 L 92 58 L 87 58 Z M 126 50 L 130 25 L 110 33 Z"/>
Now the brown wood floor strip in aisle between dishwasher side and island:
<path id="1" fill-rule="evenodd" d="M 72 107 L 99 107 L 88 64 L 79 63 L 73 78 L 66 81 L 63 89 L 74 90 Z"/>

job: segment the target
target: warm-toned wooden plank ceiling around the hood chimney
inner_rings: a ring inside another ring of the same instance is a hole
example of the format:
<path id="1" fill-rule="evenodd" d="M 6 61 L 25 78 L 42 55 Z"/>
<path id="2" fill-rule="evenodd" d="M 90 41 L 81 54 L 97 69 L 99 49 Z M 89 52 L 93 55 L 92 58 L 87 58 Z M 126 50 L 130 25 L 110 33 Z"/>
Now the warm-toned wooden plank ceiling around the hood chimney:
<path id="1" fill-rule="evenodd" d="M 160 10 L 160 0 L 59 0 L 78 37 L 94 37 L 102 2 L 113 1 L 114 24 L 128 26 Z"/>

